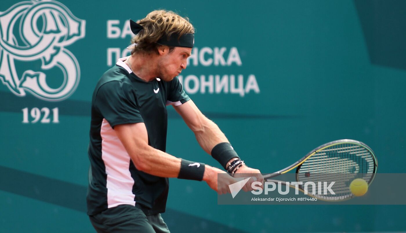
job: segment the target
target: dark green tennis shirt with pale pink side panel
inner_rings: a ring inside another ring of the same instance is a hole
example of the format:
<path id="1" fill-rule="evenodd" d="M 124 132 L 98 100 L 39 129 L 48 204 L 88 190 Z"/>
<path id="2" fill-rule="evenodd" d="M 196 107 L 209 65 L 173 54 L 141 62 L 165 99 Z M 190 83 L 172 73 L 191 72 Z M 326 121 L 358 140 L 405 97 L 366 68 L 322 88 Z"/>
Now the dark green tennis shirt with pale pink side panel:
<path id="1" fill-rule="evenodd" d="M 166 105 L 190 100 L 178 78 L 145 82 L 123 61 L 100 78 L 93 92 L 89 160 L 91 179 L 87 213 L 94 215 L 118 205 L 135 205 L 145 214 L 163 213 L 168 178 L 139 171 L 114 131 L 118 124 L 144 122 L 148 144 L 166 150 Z"/>

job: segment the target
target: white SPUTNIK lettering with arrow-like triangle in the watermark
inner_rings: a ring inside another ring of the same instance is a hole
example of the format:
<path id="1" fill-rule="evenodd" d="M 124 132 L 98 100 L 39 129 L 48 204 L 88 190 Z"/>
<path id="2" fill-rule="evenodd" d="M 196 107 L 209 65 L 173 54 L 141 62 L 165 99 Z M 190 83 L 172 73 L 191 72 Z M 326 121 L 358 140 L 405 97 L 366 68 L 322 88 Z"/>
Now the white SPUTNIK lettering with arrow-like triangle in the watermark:
<path id="1" fill-rule="evenodd" d="M 250 178 L 244 179 L 242 181 L 238 181 L 235 182 L 231 185 L 229 185 L 230 191 L 231 191 L 231 196 L 234 198 L 238 192 L 240 192 L 240 190 L 242 189 L 242 187 L 244 187 L 244 185 L 248 182 Z M 311 187 L 311 192 L 310 194 L 315 195 L 327 195 L 327 194 L 332 194 L 335 195 L 335 192 L 333 191 L 333 189 L 331 189 L 333 187 L 333 185 L 335 184 L 335 181 L 330 182 L 329 184 L 324 181 L 324 182 L 317 182 L 316 183 L 312 182 L 312 181 L 307 181 L 307 182 L 302 182 L 302 181 L 298 181 L 298 182 L 284 182 L 284 181 L 277 181 L 277 192 L 281 195 L 287 195 L 289 194 L 289 187 L 294 187 L 295 189 L 295 195 L 299 194 L 299 185 L 301 185 L 303 187 L 303 191 L 304 194 L 308 194 L 309 193 L 309 186 Z M 286 186 L 285 191 L 282 190 L 282 186 Z M 316 193 L 316 186 L 317 186 L 317 193 Z M 264 184 L 262 185 L 261 182 L 258 181 L 254 181 L 253 183 L 251 183 L 251 187 L 252 190 L 251 193 L 254 195 L 260 195 L 262 193 L 264 193 L 265 195 L 267 195 L 269 192 L 274 192 L 276 190 L 276 183 L 273 181 L 265 181 Z"/>

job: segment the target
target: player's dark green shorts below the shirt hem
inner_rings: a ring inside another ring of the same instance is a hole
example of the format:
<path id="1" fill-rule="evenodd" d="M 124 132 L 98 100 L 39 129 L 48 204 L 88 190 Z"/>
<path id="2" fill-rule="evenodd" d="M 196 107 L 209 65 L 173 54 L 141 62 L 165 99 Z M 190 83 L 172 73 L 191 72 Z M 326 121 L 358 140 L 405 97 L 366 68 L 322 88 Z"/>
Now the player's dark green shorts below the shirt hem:
<path id="1" fill-rule="evenodd" d="M 169 233 L 160 213 L 145 215 L 132 205 L 119 205 L 89 216 L 98 233 Z"/>

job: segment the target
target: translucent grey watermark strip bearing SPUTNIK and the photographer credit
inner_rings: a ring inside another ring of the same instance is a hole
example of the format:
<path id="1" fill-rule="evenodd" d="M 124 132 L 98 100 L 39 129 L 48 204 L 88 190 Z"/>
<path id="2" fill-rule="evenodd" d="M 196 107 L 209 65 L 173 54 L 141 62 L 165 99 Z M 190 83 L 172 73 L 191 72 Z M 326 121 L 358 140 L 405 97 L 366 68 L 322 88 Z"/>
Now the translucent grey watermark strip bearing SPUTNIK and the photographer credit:
<path id="1" fill-rule="evenodd" d="M 406 206 L 406 185 L 399 185 L 399 181 L 406 179 L 406 173 L 315 173 L 307 176 L 288 172 L 277 180 L 266 178 L 263 183 L 256 182 L 257 174 L 238 175 L 240 177 L 234 177 L 230 185 L 229 174 L 218 174 L 221 191 L 217 195 L 218 205 Z M 355 196 L 350 188 L 355 179 L 368 183 L 367 192 L 362 196 Z M 226 189 L 231 195 L 224 194 Z M 390 198 L 382 198 L 385 195 Z"/>

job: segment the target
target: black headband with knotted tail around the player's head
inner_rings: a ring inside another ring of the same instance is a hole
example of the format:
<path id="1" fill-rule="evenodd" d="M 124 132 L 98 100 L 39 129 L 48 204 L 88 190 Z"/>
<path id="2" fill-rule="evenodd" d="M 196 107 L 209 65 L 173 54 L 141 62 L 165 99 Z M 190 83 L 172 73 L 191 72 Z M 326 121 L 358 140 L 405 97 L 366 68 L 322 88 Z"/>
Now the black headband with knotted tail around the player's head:
<path id="1" fill-rule="evenodd" d="M 130 20 L 130 27 L 132 33 L 137 35 L 141 30 L 143 30 L 143 26 L 137 24 L 133 20 Z M 173 46 L 173 47 L 186 47 L 186 48 L 193 48 L 194 44 L 194 34 L 192 33 L 184 33 L 181 37 L 179 34 L 173 33 L 169 38 L 167 36 L 163 36 L 157 41 L 158 44 Z"/>

